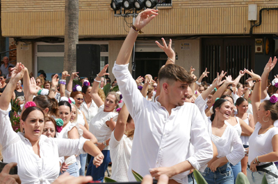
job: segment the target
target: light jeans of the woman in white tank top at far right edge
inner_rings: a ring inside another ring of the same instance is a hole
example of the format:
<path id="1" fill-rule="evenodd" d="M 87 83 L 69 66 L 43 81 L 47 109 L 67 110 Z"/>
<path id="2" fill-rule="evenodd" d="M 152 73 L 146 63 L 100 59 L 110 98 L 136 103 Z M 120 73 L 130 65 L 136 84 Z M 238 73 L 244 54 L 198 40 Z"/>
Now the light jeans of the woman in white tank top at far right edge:
<path id="1" fill-rule="evenodd" d="M 278 175 L 278 170 L 275 164 L 270 165 L 269 167 L 265 167 L 264 169 L 273 172 L 274 174 Z M 249 167 L 247 167 L 247 178 L 250 184 L 261 184 L 263 180 L 263 175 L 265 174 L 265 178 L 268 181 L 268 184 L 275 184 L 278 183 L 278 178 L 271 176 L 270 174 L 264 172 L 252 172 Z"/>

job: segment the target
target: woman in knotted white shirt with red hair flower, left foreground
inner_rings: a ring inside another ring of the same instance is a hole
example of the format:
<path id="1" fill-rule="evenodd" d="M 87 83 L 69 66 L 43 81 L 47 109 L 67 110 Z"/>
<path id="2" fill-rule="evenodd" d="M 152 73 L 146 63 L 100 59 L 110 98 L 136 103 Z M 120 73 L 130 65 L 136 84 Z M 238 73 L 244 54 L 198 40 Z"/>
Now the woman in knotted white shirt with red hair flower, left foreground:
<path id="1" fill-rule="evenodd" d="M 15 133 L 10 124 L 8 112 L 10 99 L 17 82 L 24 75 L 24 65 L 17 63 L 13 68 L 10 82 L 0 97 L 0 144 L 3 161 L 17 163 L 18 175 L 22 183 L 52 183 L 59 174 L 58 159 L 60 156 L 81 154 L 87 151 L 95 155 L 95 164 L 100 165 L 103 159 L 101 151 L 89 140 L 47 138 L 42 135 L 44 112 L 35 107 L 34 102 L 26 102 L 22 113 L 21 124 L 24 132 Z M 25 82 L 24 82 L 25 83 Z"/>

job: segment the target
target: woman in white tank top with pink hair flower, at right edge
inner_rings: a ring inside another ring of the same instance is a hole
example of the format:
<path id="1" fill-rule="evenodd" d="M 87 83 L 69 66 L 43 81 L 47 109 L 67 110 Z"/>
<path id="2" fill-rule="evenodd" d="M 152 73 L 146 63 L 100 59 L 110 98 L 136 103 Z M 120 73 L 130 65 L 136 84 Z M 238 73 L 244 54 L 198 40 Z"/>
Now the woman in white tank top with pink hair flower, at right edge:
<path id="1" fill-rule="evenodd" d="M 274 68 L 270 63 L 268 69 Z M 261 77 L 252 71 L 245 70 L 255 81 L 252 94 L 254 122 L 253 134 L 250 136 L 247 178 L 250 183 L 261 183 L 263 175 L 269 184 L 278 183 L 278 170 L 273 162 L 278 160 L 278 128 L 274 122 L 278 120 L 278 98 L 272 95 L 270 100 L 261 101 Z"/>

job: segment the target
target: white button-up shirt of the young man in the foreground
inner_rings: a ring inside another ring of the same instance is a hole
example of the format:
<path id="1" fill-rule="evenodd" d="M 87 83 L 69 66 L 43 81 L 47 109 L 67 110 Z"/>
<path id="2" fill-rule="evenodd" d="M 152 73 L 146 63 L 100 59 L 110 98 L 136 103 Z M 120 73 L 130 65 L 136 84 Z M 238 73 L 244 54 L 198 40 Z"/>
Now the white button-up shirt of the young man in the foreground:
<path id="1" fill-rule="evenodd" d="M 147 101 L 137 89 L 128 64 L 113 67 L 120 91 L 135 122 L 135 134 L 129 164 L 129 181 L 135 181 L 131 169 L 141 176 L 154 167 L 170 167 L 188 160 L 195 169 L 213 158 L 211 138 L 195 104 L 185 103 L 172 109 L 171 115 L 157 101 Z M 159 98 L 159 97 L 158 97 Z M 190 142 L 196 152 L 190 156 Z M 173 176 L 178 183 L 188 183 L 188 172 Z"/>

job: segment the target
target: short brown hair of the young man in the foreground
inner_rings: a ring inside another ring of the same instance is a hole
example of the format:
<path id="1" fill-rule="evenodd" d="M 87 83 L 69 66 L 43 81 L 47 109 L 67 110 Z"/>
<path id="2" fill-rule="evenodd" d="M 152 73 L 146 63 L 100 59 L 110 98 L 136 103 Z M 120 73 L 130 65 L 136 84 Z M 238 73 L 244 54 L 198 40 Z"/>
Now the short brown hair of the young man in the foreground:
<path id="1" fill-rule="evenodd" d="M 158 80 L 160 82 L 162 80 L 174 80 L 191 84 L 193 82 L 193 77 L 191 77 L 190 73 L 183 67 L 177 66 L 176 64 L 167 64 L 159 71 Z"/>

